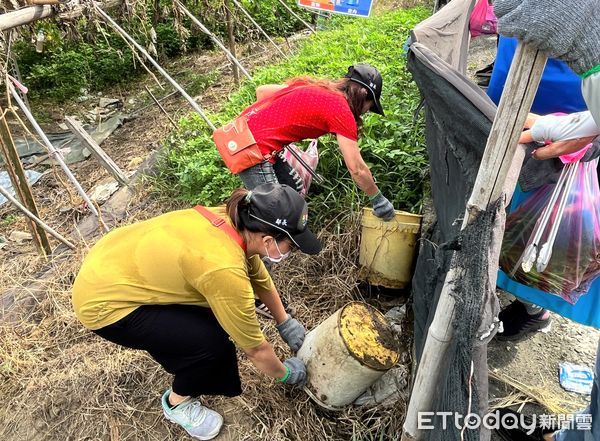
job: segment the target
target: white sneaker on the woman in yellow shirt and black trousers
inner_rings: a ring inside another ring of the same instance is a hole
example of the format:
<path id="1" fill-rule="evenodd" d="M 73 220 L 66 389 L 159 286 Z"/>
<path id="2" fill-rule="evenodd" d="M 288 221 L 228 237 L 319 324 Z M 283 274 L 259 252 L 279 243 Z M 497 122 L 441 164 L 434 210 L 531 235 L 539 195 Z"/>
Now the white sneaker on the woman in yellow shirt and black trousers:
<path id="1" fill-rule="evenodd" d="M 199 440 L 213 439 L 219 434 L 223 425 L 223 417 L 218 412 L 200 404 L 195 398 L 188 398 L 174 409 L 169 406 L 171 389 L 162 396 L 165 418 L 179 424 L 192 438 Z"/>

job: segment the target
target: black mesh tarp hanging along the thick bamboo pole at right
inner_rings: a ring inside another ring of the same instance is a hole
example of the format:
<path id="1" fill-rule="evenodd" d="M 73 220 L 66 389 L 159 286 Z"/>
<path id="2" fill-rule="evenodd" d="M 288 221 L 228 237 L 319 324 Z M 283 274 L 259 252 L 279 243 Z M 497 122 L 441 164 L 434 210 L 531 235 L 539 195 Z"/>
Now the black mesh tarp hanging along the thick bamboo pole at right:
<path id="1" fill-rule="evenodd" d="M 415 344 L 420 360 L 453 249 L 457 247 L 455 241 L 459 239 L 466 203 L 479 170 L 496 106 L 464 75 L 419 43 L 411 46 L 408 69 L 424 100 L 431 193 L 436 215 L 435 223 L 422 233 L 412 284 Z M 490 248 L 489 243 L 486 238 L 481 238 L 481 244 L 479 258 L 487 260 L 487 251 L 483 247 Z M 482 330 L 493 329 L 498 313 L 495 294 L 481 292 L 475 295 L 481 296 L 476 299 L 477 307 L 468 312 L 470 316 L 461 316 L 462 319 L 472 321 Z M 459 314 L 461 312 L 465 311 L 459 310 Z M 472 384 L 473 396 L 481 403 L 477 406 L 477 400 L 472 400 L 471 410 L 479 413 L 487 410 L 487 341 L 491 335 L 470 342 L 468 360 L 459 359 L 465 357 L 465 352 L 461 350 L 459 339 L 453 339 L 442 370 L 434 411 L 468 413 L 464 397 L 469 391 L 469 372 L 457 370 L 464 371 L 471 360 L 476 377 Z M 457 378 L 462 380 L 457 382 Z M 426 432 L 428 440 L 460 439 L 460 433 L 452 427 L 441 430 L 439 421 L 436 427 L 437 430 Z M 465 439 L 489 439 L 489 432 L 470 431 L 465 434 Z"/>

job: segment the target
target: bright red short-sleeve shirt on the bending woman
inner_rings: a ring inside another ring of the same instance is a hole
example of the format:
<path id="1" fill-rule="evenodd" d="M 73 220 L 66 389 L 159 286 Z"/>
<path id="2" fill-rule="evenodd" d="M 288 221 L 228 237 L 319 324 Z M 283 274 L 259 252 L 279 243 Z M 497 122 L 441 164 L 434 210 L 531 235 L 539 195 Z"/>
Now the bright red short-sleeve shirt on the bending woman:
<path id="1" fill-rule="evenodd" d="M 244 110 L 248 127 L 260 147 L 269 155 L 291 142 L 335 133 L 358 139 L 358 128 L 350 106 L 341 93 L 315 85 L 292 85 L 264 108 Z M 260 103 L 258 103 L 260 106 Z"/>

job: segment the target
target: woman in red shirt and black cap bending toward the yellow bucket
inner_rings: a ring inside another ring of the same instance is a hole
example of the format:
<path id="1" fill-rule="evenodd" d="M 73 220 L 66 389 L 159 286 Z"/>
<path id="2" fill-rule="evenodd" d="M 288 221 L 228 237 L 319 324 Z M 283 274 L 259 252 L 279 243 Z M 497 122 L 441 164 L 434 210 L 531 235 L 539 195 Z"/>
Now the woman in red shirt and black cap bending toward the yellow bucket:
<path id="1" fill-rule="evenodd" d="M 374 214 L 391 220 L 394 207 L 375 184 L 357 142 L 362 115 L 368 111 L 383 115 L 381 86 L 381 74 L 368 64 L 350 66 L 346 76 L 336 81 L 296 78 L 287 85 L 259 86 L 256 103 L 242 115 L 265 161 L 239 173 L 246 188 L 281 183 L 300 191 L 302 184 L 293 179 L 280 152 L 292 142 L 333 133 L 352 179 L 369 196 Z"/>

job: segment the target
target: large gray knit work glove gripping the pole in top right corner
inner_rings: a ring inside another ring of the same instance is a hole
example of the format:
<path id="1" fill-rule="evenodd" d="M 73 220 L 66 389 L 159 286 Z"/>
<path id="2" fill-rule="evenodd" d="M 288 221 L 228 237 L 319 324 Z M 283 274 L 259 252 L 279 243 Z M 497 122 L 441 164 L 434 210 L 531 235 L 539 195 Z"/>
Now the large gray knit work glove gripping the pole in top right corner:
<path id="1" fill-rule="evenodd" d="M 498 32 L 583 74 L 600 64 L 600 0 L 495 0 Z"/>

